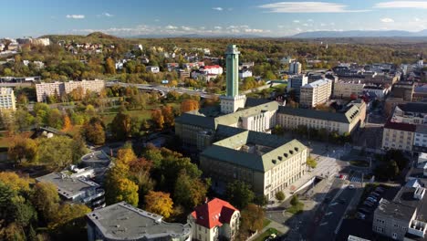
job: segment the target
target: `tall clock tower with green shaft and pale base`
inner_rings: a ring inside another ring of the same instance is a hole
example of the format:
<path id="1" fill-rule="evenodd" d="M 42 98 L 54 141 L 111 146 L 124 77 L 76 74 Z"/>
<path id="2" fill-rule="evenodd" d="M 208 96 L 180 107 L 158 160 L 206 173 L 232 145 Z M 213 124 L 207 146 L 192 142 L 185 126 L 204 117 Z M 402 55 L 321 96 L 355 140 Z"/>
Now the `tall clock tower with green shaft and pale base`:
<path id="1" fill-rule="evenodd" d="M 239 95 L 239 50 L 229 45 L 225 51 L 226 95 L 221 96 L 221 112 L 233 113 L 245 107 L 245 95 Z"/>

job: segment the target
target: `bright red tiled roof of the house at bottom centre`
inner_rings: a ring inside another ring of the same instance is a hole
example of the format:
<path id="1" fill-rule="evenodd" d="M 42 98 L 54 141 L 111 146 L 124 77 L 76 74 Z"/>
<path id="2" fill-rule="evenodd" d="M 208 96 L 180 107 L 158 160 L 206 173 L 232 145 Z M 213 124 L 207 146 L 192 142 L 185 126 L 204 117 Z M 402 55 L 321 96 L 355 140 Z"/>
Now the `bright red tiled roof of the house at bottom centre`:
<path id="1" fill-rule="evenodd" d="M 203 225 L 209 229 L 214 226 L 230 224 L 230 220 L 235 211 L 238 211 L 232 204 L 219 198 L 214 198 L 206 204 L 196 206 L 192 213 L 197 225 Z"/>

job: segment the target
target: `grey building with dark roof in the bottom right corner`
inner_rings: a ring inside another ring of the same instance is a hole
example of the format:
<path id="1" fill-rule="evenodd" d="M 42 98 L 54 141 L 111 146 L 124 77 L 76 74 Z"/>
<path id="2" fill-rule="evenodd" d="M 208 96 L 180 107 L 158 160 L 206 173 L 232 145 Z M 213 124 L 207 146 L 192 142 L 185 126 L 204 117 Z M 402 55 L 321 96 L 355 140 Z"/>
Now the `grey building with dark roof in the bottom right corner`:
<path id="1" fill-rule="evenodd" d="M 422 186 L 403 186 L 392 201 L 381 199 L 373 217 L 372 230 L 393 240 L 425 237 L 427 198 Z"/>

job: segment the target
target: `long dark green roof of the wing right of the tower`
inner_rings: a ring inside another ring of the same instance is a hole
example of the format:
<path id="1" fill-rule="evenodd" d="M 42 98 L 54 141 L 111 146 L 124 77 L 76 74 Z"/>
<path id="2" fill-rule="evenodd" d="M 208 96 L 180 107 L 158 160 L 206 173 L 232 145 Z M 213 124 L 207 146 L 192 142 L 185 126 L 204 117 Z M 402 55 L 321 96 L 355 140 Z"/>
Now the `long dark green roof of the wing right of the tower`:
<path id="1" fill-rule="evenodd" d="M 291 116 L 301 116 L 306 118 L 319 119 L 324 121 L 336 121 L 342 123 L 351 123 L 356 117 L 359 117 L 359 108 L 356 105 L 351 106 L 349 110 L 345 112 L 328 112 L 323 110 L 298 109 L 285 106 L 279 107 L 278 112 Z"/>

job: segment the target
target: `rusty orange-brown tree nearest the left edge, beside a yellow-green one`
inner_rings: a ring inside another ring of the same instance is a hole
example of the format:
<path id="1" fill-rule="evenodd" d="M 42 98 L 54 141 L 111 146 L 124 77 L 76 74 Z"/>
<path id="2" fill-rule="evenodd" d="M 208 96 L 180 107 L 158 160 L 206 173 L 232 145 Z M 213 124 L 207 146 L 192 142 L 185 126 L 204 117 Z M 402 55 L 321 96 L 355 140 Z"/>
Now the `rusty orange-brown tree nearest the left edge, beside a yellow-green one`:
<path id="1" fill-rule="evenodd" d="M 37 144 L 30 138 L 14 138 L 7 150 L 7 155 L 11 160 L 18 163 L 37 162 Z"/>

